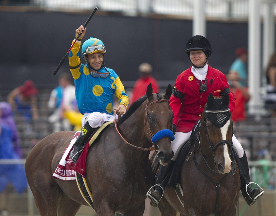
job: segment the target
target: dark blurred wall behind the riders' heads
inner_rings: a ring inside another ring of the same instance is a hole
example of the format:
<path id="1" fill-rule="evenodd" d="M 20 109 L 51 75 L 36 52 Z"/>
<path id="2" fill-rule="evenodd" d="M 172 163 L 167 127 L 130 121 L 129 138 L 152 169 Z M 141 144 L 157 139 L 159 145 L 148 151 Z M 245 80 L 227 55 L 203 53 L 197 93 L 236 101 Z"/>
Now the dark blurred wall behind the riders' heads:
<path id="1" fill-rule="evenodd" d="M 0 53 L 1 84 L 56 84 L 52 73 L 70 48 L 75 29 L 89 14 L 62 12 L 0 12 L 2 32 Z M 213 54 L 212 67 L 228 73 L 235 49 L 247 47 L 247 23 L 207 22 L 207 38 Z M 175 80 L 190 66 L 184 52 L 192 36 L 191 20 L 154 19 L 95 14 L 84 39 L 101 39 L 107 53 L 106 67 L 114 69 L 123 81 L 139 77 L 141 62 L 153 65 L 158 80 Z M 59 73 L 69 72 L 67 62 Z M 57 74 L 57 76 L 58 76 Z"/>

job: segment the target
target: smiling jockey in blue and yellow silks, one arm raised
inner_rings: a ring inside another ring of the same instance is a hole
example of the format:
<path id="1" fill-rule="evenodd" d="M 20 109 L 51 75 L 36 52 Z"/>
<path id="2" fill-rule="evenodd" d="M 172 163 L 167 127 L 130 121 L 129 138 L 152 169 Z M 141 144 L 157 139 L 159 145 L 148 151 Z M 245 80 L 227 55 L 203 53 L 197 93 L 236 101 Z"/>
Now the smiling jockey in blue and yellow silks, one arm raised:
<path id="1" fill-rule="evenodd" d="M 83 43 L 86 28 L 82 25 L 76 29 L 76 37 L 80 37 L 69 52 L 69 68 L 76 86 L 76 99 L 82 118 L 81 134 L 74 143 L 70 158 L 76 162 L 89 137 L 96 128 L 106 121 L 114 120 L 113 95 L 118 98 L 119 106 L 116 113 L 122 115 L 129 105 L 129 98 L 124 91 L 124 86 L 114 70 L 104 67 L 104 43 L 90 37 Z M 74 41 L 73 41 L 74 42 Z M 79 58 L 81 48 L 82 56 L 86 61 L 83 65 Z"/>

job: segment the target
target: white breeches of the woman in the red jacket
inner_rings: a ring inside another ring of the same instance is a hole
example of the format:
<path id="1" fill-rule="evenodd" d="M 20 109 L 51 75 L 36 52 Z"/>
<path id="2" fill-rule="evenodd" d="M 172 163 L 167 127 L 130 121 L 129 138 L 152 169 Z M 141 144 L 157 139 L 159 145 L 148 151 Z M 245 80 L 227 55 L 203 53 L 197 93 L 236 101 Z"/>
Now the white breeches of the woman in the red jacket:
<path id="1" fill-rule="evenodd" d="M 181 149 L 181 145 L 183 143 L 185 143 L 191 136 L 192 131 L 189 131 L 187 133 L 183 133 L 183 132 L 176 132 L 175 133 L 175 140 L 172 141 L 171 145 L 172 145 L 172 150 L 175 153 L 175 155 L 173 156 L 172 160 L 176 160 L 177 156 L 179 154 L 179 151 Z M 233 134 L 232 136 L 232 142 L 233 145 L 236 147 L 239 158 L 241 158 L 242 156 L 244 156 L 244 149 L 242 148 L 241 144 L 239 143 L 239 141 L 237 140 L 237 138 L 235 137 L 235 135 Z"/>

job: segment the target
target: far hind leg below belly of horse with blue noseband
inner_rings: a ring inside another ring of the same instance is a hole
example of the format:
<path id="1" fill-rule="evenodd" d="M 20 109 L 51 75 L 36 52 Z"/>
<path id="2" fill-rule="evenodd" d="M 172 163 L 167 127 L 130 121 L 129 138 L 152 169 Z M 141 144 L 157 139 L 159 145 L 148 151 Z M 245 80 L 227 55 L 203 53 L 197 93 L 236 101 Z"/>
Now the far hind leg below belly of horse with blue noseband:
<path id="1" fill-rule="evenodd" d="M 74 216 L 81 208 L 81 204 L 71 200 L 68 196 L 62 195 L 57 208 L 57 216 Z"/>

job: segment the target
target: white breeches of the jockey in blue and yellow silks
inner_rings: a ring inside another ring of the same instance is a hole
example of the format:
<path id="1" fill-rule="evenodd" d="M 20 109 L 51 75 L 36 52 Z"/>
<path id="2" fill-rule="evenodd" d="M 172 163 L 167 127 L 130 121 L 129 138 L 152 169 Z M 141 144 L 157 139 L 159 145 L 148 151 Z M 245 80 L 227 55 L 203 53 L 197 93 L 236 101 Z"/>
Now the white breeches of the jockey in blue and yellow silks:
<path id="1" fill-rule="evenodd" d="M 117 119 L 116 115 L 116 119 Z M 110 115 L 107 113 L 93 112 L 93 113 L 84 113 L 83 118 L 81 120 L 81 125 L 84 126 L 86 122 L 89 122 L 89 125 L 92 128 L 98 128 L 107 121 L 114 121 L 114 115 Z"/>

